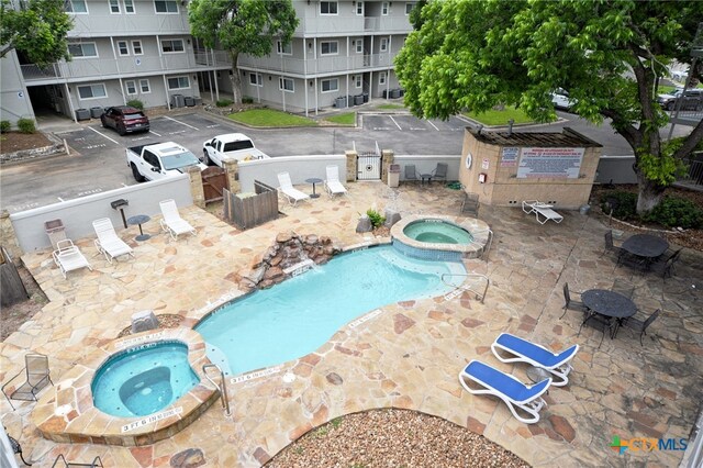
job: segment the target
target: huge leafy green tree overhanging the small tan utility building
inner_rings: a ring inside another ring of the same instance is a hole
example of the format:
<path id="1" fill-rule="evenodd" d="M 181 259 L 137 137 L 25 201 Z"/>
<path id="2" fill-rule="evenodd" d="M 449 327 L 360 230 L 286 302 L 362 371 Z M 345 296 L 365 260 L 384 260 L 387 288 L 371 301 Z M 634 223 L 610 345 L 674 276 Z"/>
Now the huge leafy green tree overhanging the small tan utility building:
<path id="1" fill-rule="evenodd" d="M 668 115 L 656 103 L 668 65 L 691 63 L 703 2 L 445 0 L 420 14 L 395 59 L 419 116 L 506 103 L 548 122 L 556 119 L 550 94 L 563 88 L 577 101 L 573 112 L 609 119 L 632 146 L 639 213 L 661 201 L 681 158 L 703 138 L 699 123 L 682 144 L 663 141 Z"/>

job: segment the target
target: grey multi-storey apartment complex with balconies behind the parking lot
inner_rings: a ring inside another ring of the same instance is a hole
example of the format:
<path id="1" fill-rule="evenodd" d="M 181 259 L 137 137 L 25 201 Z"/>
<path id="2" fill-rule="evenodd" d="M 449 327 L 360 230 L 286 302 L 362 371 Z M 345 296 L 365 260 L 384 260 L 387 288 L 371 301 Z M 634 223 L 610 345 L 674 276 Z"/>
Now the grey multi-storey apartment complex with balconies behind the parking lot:
<path id="1" fill-rule="evenodd" d="M 19 8 L 19 0 L 11 0 Z M 12 52 L 0 63 L 1 119 L 37 113 L 86 118 L 124 104 L 197 104 L 232 92 L 225 51 L 190 35 L 188 0 L 67 0 L 74 19 L 71 62 L 47 67 Z M 294 0 L 293 40 L 266 57 L 239 56 L 243 94 L 291 112 L 347 105 L 365 97 L 400 97 L 393 58 L 412 30 L 415 2 Z M 347 97 L 352 97 L 347 99 Z M 77 112 L 78 111 L 78 112 Z M 88 116 L 90 114 L 88 113 Z"/>

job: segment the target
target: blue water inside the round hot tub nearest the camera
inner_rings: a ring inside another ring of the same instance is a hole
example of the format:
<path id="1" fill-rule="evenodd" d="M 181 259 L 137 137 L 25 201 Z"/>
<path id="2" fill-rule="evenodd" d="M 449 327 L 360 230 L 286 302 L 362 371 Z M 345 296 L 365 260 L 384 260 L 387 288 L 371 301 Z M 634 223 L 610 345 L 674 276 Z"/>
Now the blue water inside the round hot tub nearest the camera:
<path id="1" fill-rule="evenodd" d="M 161 342 L 112 356 L 91 385 L 96 408 L 114 416 L 145 416 L 186 394 L 198 382 L 188 346 Z"/>

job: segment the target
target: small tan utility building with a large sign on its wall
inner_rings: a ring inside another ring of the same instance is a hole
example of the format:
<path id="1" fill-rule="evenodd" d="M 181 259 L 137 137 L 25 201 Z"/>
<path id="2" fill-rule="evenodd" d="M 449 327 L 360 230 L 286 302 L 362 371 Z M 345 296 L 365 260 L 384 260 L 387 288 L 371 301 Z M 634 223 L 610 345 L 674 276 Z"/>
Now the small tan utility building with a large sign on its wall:
<path id="1" fill-rule="evenodd" d="M 577 209 L 589 201 L 602 145 L 565 127 L 562 133 L 467 129 L 459 180 L 481 203 L 513 207 L 539 200 Z"/>

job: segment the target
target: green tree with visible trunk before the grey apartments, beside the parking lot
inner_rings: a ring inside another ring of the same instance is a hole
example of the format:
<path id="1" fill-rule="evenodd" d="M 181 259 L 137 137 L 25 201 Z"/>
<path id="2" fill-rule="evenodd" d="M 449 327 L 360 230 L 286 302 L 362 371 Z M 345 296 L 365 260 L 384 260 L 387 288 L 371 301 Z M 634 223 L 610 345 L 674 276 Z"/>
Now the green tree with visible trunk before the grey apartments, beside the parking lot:
<path id="1" fill-rule="evenodd" d="M 290 0 L 191 0 L 188 20 L 191 34 L 208 47 L 228 51 L 236 103 L 242 103 L 239 54 L 268 55 L 275 37 L 286 45 L 298 27 Z"/>

